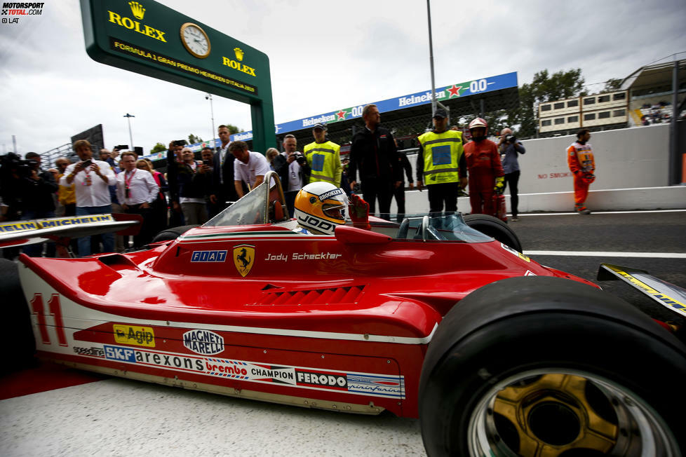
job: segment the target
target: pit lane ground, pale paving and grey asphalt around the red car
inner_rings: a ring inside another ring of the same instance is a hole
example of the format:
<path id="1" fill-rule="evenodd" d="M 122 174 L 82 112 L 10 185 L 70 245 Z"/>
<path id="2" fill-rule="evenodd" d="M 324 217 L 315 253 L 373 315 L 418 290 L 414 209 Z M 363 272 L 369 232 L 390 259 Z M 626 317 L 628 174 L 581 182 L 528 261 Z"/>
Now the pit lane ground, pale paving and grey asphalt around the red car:
<path id="1" fill-rule="evenodd" d="M 522 214 L 510 226 L 546 266 L 595 281 L 605 261 L 686 288 L 686 211 Z M 595 282 L 684 323 L 624 282 Z M 387 413 L 302 409 L 50 366 L 0 378 L 0 394 L 3 456 L 425 455 L 419 421 Z"/>

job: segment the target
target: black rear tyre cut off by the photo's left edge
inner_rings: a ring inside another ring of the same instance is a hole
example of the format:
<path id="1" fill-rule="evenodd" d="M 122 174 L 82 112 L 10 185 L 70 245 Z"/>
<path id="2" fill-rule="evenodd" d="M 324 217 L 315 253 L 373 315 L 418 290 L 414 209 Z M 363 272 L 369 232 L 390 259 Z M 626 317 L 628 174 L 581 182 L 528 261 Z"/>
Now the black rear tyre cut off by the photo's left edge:
<path id="1" fill-rule="evenodd" d="M 0 373 L 25 367 L 36 350 L 31 316 L 19 281 L 19 266 L 0 259 L 0 297 L 2 297 L 3 340 L 0 350 L 3 360 Z"/>

